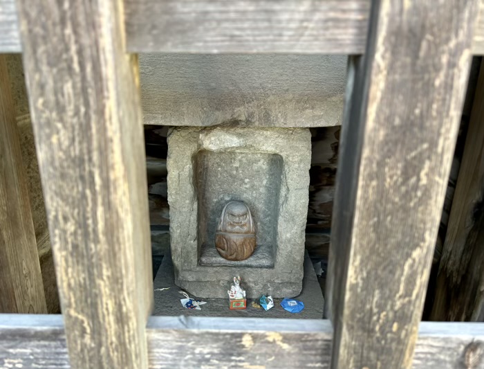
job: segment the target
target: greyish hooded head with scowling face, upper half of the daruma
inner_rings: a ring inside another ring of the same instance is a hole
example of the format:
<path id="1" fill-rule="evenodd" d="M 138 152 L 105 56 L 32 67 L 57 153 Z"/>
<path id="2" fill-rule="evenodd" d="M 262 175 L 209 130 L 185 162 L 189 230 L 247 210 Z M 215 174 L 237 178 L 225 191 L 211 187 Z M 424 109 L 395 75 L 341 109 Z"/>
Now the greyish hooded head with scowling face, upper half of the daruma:
<path id="1" fill-rule="evenodd" d="M 247 205 L 230 201 L 223 208 L 217 231 L 227 233 L 255 233 L 254 221 Z"/>

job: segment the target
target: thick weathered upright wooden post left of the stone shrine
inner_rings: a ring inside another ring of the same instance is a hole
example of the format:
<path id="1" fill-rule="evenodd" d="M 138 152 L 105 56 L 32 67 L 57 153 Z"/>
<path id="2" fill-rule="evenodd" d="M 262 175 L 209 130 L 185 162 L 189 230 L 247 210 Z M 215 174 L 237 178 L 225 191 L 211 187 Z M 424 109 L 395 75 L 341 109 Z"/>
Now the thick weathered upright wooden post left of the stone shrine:
<path id="1" fill-rule="evenodd" d="M 17 6 L 71 366 L 147 368 L 147 175 L 122 3 Z"/>

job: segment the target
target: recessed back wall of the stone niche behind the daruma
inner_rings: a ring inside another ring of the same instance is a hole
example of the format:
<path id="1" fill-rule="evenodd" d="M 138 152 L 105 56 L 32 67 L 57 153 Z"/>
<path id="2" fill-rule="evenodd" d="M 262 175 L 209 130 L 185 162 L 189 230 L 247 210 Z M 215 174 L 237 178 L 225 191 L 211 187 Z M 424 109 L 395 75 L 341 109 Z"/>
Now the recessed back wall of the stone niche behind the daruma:
<path id="1" fill-rule="evenodd" d="M 202 150 L 195 157 L 198 240 L 203 249 L 214 248 L 218 220 L 224 206 L 233 200 L 243 201 L 250 209 L 257 248 L 266 245 L 268 251 L 275 249 L 282 157 L 261 152 L 209 150 Z M 254 259 L 249 258 L 247 262 Z"/>

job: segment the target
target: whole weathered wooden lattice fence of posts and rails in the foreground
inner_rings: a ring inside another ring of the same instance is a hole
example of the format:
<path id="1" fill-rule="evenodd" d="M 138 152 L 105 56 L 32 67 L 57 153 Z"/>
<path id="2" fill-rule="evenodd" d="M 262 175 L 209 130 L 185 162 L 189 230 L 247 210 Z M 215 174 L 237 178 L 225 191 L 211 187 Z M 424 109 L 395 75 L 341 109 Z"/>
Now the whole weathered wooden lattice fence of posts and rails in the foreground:
<path id="1" fill-rule="evenodd" d="M 483 323 L 421 323 L 478 0 L 0 0 L 23 53 L 62 316 L 0 314 L 0 368 L 484 368 Z M 348 54 L 330 321 L 149 317 L 136 55 Z M 44 313 L 0 55 L 0 311 Z M 481 102 L 482 103 L 482 102 Z M 420 328 L 419 328 L 420 326 Z"/>

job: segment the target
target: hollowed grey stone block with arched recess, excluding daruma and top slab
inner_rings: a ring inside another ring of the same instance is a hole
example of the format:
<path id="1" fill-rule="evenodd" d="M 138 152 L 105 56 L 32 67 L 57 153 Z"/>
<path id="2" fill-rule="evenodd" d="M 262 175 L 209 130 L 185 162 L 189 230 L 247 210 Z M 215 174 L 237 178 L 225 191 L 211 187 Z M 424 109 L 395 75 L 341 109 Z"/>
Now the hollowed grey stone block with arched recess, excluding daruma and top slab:
<path id="1" fill-rule="evenodd" d="M 171 258 L 176 285 L 225 298 L 241 276 L 248 298 L 294 297 L 302 288 L 308 210 L 307 128 L 177 127 L 168 136 Z M 256 230 L 254 253 L 226 260 L 215 238 L 223 209 L 241 201 Z"/>

